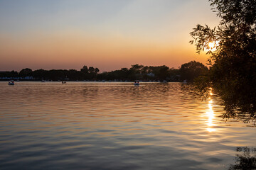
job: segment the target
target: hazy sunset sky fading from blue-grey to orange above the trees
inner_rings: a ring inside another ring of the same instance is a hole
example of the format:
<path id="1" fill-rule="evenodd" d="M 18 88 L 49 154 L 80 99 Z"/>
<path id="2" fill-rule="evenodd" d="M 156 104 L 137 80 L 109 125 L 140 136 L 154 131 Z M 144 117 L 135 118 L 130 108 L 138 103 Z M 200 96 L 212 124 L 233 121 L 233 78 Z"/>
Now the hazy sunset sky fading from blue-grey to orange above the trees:
<path id="1" fill-rule="evenodd" d="M 206 64 L 188 41 L 198 23 L 218 26 L 210 8 L 208 0 L 0 0 L 0 71 Z"/>

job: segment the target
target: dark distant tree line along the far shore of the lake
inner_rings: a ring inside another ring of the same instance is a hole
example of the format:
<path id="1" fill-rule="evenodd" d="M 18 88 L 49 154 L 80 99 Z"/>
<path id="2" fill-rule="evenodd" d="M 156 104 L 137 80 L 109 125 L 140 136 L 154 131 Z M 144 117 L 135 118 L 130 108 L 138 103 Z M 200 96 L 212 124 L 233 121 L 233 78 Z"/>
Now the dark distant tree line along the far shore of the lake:
<path id="1" fill-rule="evenodd" d="M 144 66 L 134 64 L 132 67 L 114 70 L 112 72 L 102 72 L 94 67 L 83 66 L 80 71 L 75 69 L 21 69 L 20 72 L 0 72 L 0 78 L 21 79 L 21 80 L 50 80 L 50 81 L 95 81 L 95 80 L 122 80 L 122 81 L 193 81 L 196 77 L 205 75 L 208 68 L 200 62 L 191 61 L 182 64 L 179 69 L 163 66 Z"/>

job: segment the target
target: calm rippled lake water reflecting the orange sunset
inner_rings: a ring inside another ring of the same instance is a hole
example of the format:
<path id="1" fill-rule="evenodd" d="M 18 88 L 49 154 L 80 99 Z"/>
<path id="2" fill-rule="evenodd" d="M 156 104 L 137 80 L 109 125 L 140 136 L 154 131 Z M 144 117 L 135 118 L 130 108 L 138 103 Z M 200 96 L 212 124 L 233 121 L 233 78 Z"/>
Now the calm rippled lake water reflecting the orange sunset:
<path id="1" fill-rule="evenodd" d="M 0 82 L 0 169 L 228 169 L 255 128 L 179 83 Z"/>

